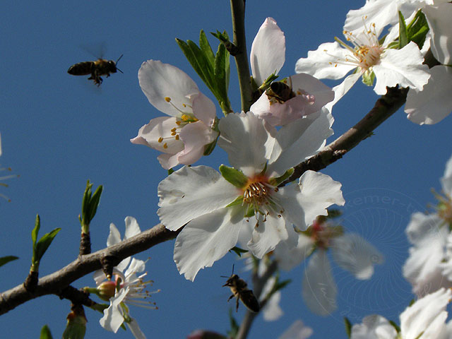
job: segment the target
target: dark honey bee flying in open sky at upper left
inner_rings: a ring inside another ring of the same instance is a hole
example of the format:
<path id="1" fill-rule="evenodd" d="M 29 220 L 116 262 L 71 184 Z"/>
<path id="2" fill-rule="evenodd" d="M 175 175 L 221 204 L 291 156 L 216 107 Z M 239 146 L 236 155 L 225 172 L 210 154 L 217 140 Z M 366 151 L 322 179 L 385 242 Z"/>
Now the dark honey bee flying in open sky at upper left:
<path id="1" fill-rule="evenodd" d="M 102 83 L 102 78 L 100 76 L 106 76 L 108 78 L 110 76 L 110 73 L 116 73 L 117 71 L 123 73 L 116 66 L 121 58 L 122 55 L 117 59 L 116 62 L 114 62 L 113 60 L 105 60 L 101 58 L 97 59 L 96 61 L 79 62 L 78 64 L 74 64 L 69 67 L 68 73 L 72 74 L 73 76 L 88 76 L 88 74 L 91 74 L 88 80 L 93 80 L 97 86 L 100 86 L 100 84 Z"/>

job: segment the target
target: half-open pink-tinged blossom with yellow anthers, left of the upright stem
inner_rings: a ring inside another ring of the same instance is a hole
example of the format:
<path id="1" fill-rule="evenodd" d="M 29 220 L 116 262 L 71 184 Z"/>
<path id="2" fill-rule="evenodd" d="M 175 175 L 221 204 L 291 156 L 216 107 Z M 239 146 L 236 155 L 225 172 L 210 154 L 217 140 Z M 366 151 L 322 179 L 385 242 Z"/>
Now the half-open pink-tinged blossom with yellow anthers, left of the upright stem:
<path id="1" fill-rule="evenodd" d="M 138 81 L 150 104 L 169 117 L 151 119 L 131 142 L 162 152 L 157 159 L 165 169 L 199 160 L 218 136 L 213 102 L 186 73 L 161 61 L 143 62 Z"/>

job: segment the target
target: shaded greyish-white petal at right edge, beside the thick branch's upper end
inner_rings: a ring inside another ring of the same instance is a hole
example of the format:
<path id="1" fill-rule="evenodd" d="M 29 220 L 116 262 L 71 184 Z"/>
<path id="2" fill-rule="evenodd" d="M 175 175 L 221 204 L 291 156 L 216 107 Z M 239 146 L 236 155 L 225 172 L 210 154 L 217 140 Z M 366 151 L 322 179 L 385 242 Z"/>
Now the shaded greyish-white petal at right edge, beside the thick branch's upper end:
<path id="1" fill-rule="evenodd" d="M 448 66 L 434 66 L 427 85 L 417 92 L 409 90 L 405 113 L 415 124 L 436 124 L 452 112 L 452 69 Z"/>

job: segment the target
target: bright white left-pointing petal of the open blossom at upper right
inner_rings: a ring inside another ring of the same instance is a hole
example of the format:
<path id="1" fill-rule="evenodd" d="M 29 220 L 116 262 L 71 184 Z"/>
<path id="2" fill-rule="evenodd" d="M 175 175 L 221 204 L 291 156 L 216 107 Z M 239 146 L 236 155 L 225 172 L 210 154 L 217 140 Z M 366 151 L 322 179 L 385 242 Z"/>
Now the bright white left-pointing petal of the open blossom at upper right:
<path id="1" fill-rule="evenodd" d="M 318 79 L 340 79 L 352 69 L 356 69 L 356 65 L 338 63 L 350 54 L 351 52 L 340 47 L 338 42 L 326 42 L 315 51 L 309 51 L 307 58 L 298 59 L 295 71 L 311 74 Z"/>

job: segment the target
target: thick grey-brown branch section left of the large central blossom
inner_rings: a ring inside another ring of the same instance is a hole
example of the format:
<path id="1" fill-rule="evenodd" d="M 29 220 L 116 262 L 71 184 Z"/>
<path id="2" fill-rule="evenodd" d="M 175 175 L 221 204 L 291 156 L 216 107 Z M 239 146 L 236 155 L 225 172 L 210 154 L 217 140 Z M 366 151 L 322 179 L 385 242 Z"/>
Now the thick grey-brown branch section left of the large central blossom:
<path id="1" fill-rule="evenodd" d="M 68 298 L 67 292 L 70 289 L 73 292 L 70 295 L 73 296 L 73 288 L 69 287 L 69 285 L 78 278 L 102 268 L 102 263 L 107 261 L 109 265 L 116 266 L 124 258 L 150 249 L 150 247 L 161 242 L 174 239 L 182 231 L 182 228 L 173 232 L 167 230 L 162 224 L 158 224 L 150 230 L 145 230 L 124 242 L 109 246 L 93 254 L 79 256 L 75 261 L 69 263 L 68 266 L 61 268 L 61 270 L 40 278 L 36 290 L 32 293 L 25 290 L 23 284 L 13 287 L 11 290 L 0 294 L 0 314 L 5 314 L 20 304 L 42 295 L 58 295 L 59 297 Z"/>

